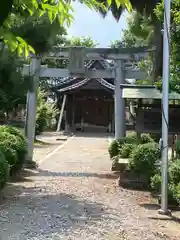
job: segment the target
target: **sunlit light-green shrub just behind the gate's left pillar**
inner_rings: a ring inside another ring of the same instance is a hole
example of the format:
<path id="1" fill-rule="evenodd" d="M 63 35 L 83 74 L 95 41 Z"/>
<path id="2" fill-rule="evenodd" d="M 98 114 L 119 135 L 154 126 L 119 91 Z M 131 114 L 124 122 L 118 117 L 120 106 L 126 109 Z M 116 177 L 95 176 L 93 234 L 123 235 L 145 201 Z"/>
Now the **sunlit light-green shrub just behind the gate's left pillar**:
<path id="1" fill-rule="evenodd" d="M 48 103 L 46 93 L 38 91 L 37 113 L 36 113 L 36 134 L 40 134 L 48 127 L 49 122 L 55 118 L 58 111 L 54 104 Z"/>

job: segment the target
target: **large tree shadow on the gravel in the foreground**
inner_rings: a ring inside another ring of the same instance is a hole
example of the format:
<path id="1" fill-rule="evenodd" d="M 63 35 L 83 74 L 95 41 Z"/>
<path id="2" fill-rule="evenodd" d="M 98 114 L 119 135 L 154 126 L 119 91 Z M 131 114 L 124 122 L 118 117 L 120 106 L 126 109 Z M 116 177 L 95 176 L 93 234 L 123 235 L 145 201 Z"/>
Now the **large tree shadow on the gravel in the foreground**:
<path id="1" fill-rule="evenodd" d="M 1 194 L 0 238 L 52 239 L 54 234 L 67 239 L 72 231 L 80 237 L 79 229 L 88 228 L 91 234 L 92 225 L 102 219 L 120 221 L 117 215 L 106 212 L 102 204 L 75 195 L 53 194 L 53 189 L 51 192 L 49 195 L 38 186 L 7 186 Z"/>

